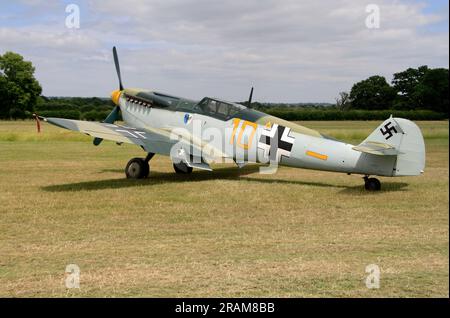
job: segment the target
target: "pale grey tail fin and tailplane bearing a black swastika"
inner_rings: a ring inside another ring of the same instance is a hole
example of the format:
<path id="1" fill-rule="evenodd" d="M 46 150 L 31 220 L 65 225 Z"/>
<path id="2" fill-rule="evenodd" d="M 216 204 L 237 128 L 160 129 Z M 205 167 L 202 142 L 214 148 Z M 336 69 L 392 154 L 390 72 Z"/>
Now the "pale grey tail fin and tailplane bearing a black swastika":
<path id="1" fill-rule="evenodd" d="M 377 156 L 396 156 L 393 176 L 416 176 L 425 169 L 425 143 L 412 121 L 392 116 L 354 150 Z"/>

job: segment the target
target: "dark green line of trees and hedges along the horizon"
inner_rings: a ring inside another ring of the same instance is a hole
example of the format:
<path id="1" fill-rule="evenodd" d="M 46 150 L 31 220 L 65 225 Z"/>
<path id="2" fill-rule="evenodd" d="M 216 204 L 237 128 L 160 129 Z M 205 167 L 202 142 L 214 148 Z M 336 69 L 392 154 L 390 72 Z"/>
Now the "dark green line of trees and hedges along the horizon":
<path id="1" fill-rule="evenodd" d="M 101 121 L 114 107 L 108 98 L 42 96 L 34 72 L 32 63 L 21 55 L 0 55 L 0 119 L 31 118 L 37 112 L 45 117 Z M 416 120 L 448 119 L 448 94 L 448 69 L 421 66 L 395 73 L 391 83 L 378 75 L 355 83 L 350 92 L 339 93 L 334 105 L 253 102 L 250 106 L 287 120 L 378 120 L 387 113 Z"/>

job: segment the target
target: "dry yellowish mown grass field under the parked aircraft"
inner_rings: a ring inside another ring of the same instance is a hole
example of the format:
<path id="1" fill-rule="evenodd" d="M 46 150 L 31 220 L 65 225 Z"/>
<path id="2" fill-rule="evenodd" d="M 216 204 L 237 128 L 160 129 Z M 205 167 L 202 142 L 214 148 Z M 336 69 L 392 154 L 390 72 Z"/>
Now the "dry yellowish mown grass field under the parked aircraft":
<path id="1" fill-rule="evenodd" d="M 378 124 L 305 123 L 353 143 Z M 425 174 L 367 193 L 359 176 L 293 168 L 179 176 L 161 156 L 126 180 L 137 147 L 0 122 L 0 296 L 448 297 L 449 127 L 418 124 Z"/>

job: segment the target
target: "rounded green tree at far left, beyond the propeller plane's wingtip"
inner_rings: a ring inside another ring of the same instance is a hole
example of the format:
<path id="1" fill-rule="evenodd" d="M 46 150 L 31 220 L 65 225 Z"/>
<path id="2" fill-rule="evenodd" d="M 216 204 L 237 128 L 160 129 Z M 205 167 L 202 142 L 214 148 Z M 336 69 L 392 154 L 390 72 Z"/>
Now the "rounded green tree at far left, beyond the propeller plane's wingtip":
<path id="1" fill-rule="evenodd" d="M 25 118 L 42 92 L 34 67 L 20 54 L 0 55 L 0 118 Z"/>

